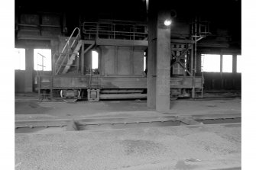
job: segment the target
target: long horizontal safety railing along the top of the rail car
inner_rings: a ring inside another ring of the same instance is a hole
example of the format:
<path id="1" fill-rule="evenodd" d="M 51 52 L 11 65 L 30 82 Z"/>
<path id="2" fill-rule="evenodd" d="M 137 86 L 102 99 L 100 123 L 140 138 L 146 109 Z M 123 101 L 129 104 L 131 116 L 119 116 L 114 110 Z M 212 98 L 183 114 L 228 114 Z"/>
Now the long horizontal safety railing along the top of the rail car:
<path id="1" fill-rule="evenodd" d="M 87 40 L 96 38 L 146 40 L 147 24 L 125 21 L 83 22 L 83 35 Z"/>

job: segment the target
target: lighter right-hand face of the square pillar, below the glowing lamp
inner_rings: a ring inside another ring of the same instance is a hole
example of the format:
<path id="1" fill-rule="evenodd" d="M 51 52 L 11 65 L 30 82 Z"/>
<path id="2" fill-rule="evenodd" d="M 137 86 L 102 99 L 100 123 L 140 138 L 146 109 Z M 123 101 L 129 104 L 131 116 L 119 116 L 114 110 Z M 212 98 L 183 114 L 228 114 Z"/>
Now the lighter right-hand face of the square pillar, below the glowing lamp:
<path id="1" fill-rule="evenodd" d="M 170 11 L 158 11 L 157 16 L 157 82 L 156 110 L 170 110 L 170 26 L 164 21 L 170 19 Z"/>

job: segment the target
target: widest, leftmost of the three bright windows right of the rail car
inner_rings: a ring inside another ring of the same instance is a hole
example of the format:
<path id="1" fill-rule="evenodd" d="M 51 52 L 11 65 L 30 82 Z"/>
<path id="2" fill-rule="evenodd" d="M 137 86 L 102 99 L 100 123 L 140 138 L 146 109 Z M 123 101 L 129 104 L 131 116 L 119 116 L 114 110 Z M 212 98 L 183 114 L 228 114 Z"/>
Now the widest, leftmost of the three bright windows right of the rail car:
<path id="1" fill-rule="evenodd" d="M 220 72 L 220 55 L 202 54 L 201 55 L 202 72 Z"/>

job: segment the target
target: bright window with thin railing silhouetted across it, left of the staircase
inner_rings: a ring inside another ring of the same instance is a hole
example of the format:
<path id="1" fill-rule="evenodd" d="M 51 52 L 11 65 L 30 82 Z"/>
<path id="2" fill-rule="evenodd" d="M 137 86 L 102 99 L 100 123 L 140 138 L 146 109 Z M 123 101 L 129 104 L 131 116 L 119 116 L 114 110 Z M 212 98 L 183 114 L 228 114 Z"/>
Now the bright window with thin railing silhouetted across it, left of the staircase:
<path id="1" fill-rule="evenodd" d="M 51 70 L 51 50 L 34 49 L 34 70 Z"/>

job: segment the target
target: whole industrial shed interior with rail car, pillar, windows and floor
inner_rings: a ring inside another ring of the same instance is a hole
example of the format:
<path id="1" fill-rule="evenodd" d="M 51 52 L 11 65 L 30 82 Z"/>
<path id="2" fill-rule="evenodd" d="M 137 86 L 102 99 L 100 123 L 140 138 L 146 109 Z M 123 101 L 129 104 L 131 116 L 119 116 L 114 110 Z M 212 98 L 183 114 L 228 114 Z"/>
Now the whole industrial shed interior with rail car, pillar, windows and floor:
<path id="1" fill-rule="evenodd" d="M 242 56 L 241 0 L 15 1 L 15 169 L 241 169 Z"/>

